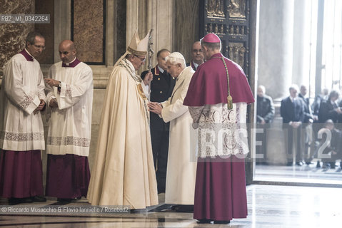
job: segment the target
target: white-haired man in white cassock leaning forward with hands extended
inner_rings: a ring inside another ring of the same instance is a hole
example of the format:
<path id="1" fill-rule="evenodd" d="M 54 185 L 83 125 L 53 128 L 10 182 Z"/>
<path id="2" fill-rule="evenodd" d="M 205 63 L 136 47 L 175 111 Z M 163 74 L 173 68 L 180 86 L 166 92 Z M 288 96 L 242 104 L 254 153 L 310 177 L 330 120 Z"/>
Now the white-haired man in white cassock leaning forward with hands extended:
<path id="1" fill-rule="evenodd" d="M 164 122 L 170 122 L 170 143 L 168 168 L 166 171 L 165 203 L 176 204 L 171 209 L 178 212 L 193 211 L 196 182 L 196 130 L 192 128 L 192 118 L 188 106 L 183 105 L 188 85 L 193 76 L 193 68 L 186 67 L 185 59 L 179 52 L 166 57 L 167 69 L 176 85 L 171 98 L 163 103 L 151 102 L 151 112 L 159 114 Z"/>

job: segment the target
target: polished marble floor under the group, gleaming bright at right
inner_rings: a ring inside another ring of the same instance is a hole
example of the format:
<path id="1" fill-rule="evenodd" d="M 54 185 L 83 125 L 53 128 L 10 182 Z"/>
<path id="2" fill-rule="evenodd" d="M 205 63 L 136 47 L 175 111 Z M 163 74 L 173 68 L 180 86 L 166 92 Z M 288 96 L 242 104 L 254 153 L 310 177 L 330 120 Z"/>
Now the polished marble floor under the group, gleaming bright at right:
<path id="1" fill-rule="evenodd" d="M 191 213 L 151 212 L 150 207 L 135 213 L 74 213 L 74 212 L 23 212 L 22 208 L 66 207 L 86 208 L 85 199 L 56 206 L 56 201 L 44 204 L 31 203 L 6 205 L 1 199 L 0 227 L 340 227 L 342 221 L 342 190 L 327 187 L 296 187 L 249 185 L 247 187 L 248 217 L 233 219 L 231 224 L 197 224 Z M 159 195 L 161 207 L 164 194 Z M 10 207 L 11 212 L 9 212 Z M 21 212 L 14 211 L 21 208 Z M 166 210 L 168 211 L 168 210 Z"/>

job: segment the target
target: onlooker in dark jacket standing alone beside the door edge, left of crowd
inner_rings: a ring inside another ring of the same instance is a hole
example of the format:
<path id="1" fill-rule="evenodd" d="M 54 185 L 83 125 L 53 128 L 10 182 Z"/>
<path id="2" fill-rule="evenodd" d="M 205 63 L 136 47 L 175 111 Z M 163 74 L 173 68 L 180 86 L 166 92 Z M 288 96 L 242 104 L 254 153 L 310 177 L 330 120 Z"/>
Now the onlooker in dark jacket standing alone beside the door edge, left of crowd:
<path id="1" fill-rule="evenodd" d="M 265 86 L 258 86 L 258 97 L 256 98 L 256 127 L 262 130 L 261 133 L 256 134 L 256 141 L 261 142 L 261 145 L 256 146 L 256 155 L 263 157 L 256 157 L 258 164 L 267 165 L 267 130 L 270 128 L 274 117 L 274 105 L 270 96 L 265 94 Z"/>

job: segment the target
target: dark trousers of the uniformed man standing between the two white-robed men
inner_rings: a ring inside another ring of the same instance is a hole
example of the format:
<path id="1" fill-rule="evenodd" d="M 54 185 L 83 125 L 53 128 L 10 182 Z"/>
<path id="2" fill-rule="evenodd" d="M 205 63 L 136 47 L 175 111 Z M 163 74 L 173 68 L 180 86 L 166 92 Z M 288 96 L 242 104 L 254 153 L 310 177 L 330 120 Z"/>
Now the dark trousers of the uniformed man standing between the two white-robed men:
<path id="1" fill-rule="evenodd" d="M 151 130 L 152 150 L 154 153 L 154 168 L 158 192 L 165 192 L 166 168 L 169 154 L 169 130 Z"/>

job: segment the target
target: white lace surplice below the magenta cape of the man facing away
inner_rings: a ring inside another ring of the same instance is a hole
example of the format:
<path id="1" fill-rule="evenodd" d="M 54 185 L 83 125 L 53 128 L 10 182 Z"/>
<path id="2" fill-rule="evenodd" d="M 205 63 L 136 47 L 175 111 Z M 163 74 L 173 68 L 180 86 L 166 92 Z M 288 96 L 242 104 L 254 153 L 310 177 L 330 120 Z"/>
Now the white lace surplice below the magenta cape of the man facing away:
<path id="1" fill-rule="evenodd" d="M 188 107 L 193 118 L 193 128 L 198 128 L 199 157 L 228 157 L 246 155 L 248 150 L 246 130 L 246 103 Z"/>

